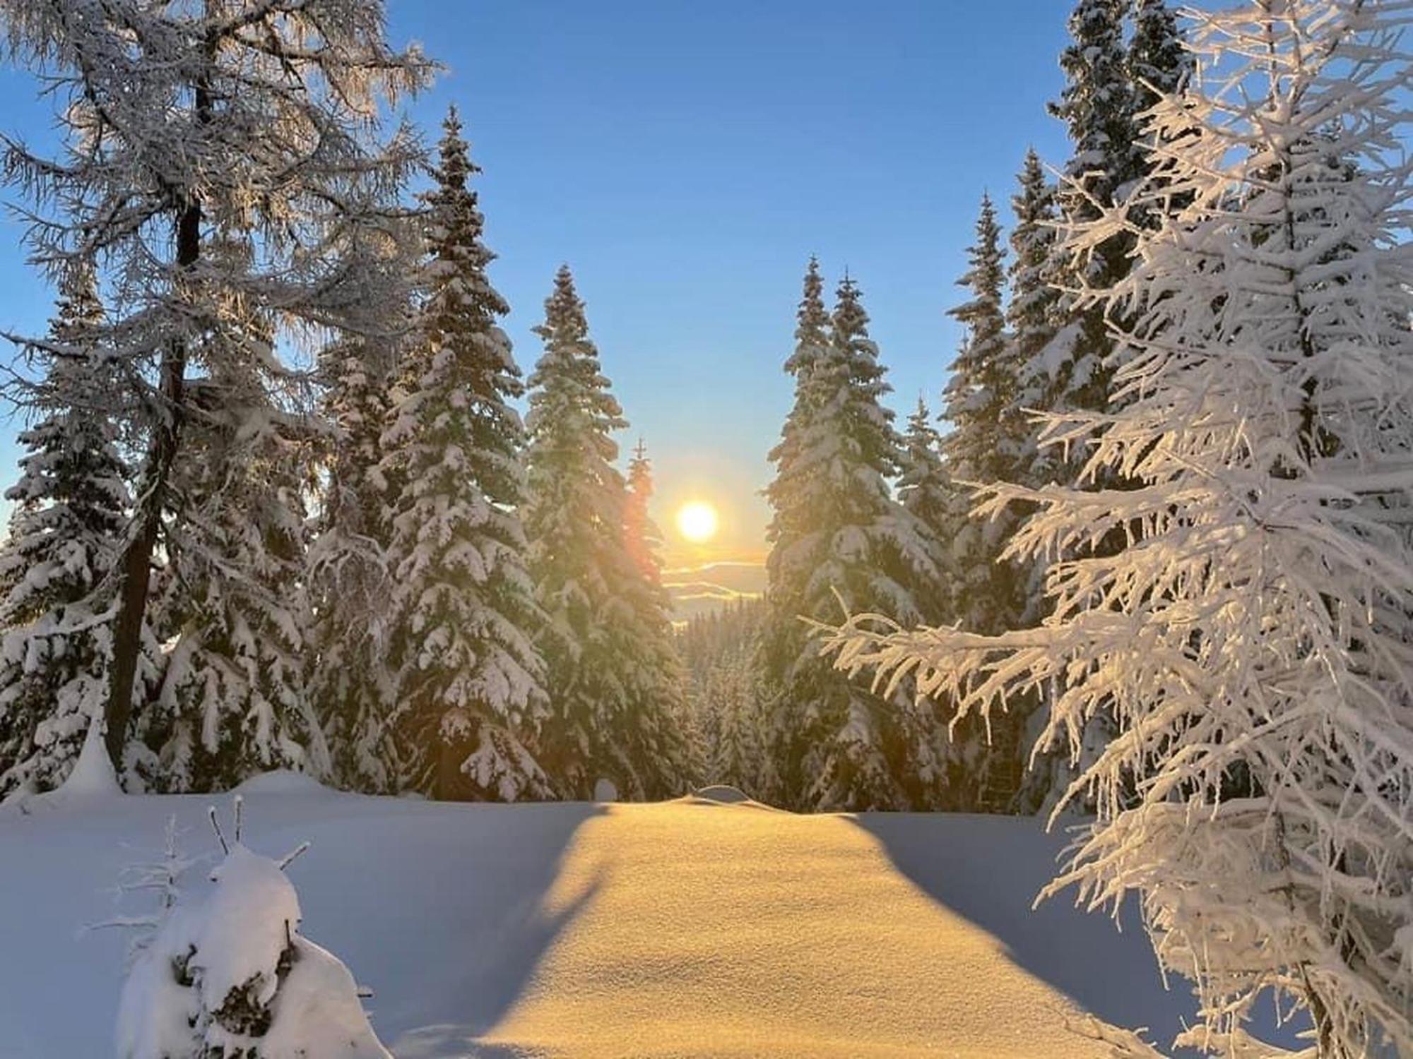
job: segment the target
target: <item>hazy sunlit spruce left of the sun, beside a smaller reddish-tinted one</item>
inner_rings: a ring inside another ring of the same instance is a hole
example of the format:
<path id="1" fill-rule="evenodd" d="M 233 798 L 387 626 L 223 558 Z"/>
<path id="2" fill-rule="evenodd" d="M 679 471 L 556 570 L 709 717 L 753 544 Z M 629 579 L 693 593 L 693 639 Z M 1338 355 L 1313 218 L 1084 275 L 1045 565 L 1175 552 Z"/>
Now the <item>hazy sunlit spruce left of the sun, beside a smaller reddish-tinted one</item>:
<path id="1" fill-rule="evenodd" d="M 623 798 L 675 794 L 682 748 L 658 648 L 670 628 L 643 620 L 647 582 L 625 537 L 627 489 L 615 469 L 623 412 L 589 339 L 584 302 L 561 267 L 536 328 L 544 356 L 530 376 L 526 532 L 550 716 L 540 762 L 567 798 L 608 779 Z"/>

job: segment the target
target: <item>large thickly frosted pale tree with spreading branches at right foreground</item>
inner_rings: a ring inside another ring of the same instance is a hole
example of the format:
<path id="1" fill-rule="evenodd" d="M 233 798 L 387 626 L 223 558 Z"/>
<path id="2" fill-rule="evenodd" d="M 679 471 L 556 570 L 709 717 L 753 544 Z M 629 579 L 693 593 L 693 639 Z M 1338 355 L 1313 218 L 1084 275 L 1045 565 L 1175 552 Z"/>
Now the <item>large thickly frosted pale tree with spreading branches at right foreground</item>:
<path id="1" fill-rule="evenodd" d="M 1153 112 L 1161 152 L 1129 225 L 1139 311 L 1123 401 L 1056 421 L 1132 489 L 1000 487 L 1041 507 L 1037 630 L 842 630 L 841 664 L 916 672 L 986 709 L 1065 682 L 1048 736 L 1119 734 L 1071 796 L 1098 820 L 1053 888 L 1142 899 L 1217 1052 L 1256 998 L 1310 1015 L 1321 1059 L 1413 1051 L 1413 315 L 1407 7 L 1253 0 L 1197 17 L 1201 82 Z M 1128 532 L 1128 546 L 1085 554 Z M 1136 782 L 1129 782 L 1130 777 Z"/>

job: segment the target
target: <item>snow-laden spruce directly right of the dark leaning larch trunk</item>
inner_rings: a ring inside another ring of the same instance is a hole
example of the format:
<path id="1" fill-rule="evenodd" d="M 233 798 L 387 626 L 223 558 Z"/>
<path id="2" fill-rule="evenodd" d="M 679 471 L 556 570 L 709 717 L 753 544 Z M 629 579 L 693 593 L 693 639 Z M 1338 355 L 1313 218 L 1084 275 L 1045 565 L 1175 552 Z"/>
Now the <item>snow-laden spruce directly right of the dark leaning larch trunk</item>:
<path id="1" fill-rule="evenodd" d="M 259 339 L 252 339 L 256 342 Z M 162 791 L 219 791 L 271 768 L 328 774 L 307 693 L 314 442 L 259 378 L 187 380 L 151 621 L 167 645 L 127 761 Z"/>

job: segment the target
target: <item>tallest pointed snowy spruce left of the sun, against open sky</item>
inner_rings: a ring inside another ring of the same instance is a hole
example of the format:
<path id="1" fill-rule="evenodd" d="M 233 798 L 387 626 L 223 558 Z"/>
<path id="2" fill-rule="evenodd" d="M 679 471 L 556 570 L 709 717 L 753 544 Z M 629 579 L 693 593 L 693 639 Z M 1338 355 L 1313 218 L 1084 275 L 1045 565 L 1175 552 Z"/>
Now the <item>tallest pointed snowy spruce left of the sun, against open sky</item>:
<path id="1" fill-rule="evenodd" d="M 390 659 L 401 786 L 437 798 L 544 798 L 533 743 L 545 712 L 543 618 L 526 572 L 524 393 L 493 254 L 466 181 L 478 172 L 452 110 L 427 201 L 427 302 L 406 393 L 383 435 L 393 498 Z"/>

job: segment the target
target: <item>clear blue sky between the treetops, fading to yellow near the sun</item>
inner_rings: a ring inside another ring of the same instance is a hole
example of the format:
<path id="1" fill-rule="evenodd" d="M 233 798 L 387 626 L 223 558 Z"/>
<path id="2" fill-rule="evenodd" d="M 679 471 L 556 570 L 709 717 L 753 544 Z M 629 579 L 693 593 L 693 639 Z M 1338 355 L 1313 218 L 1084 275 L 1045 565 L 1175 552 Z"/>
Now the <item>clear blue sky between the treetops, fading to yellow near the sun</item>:
<path id="1" fill-rule="evenodd" d="M 492 278 L 521 366 L 568 261 L 654 459 L 658 517 L 715 501 L 723 544 L 763 548 L 757 491 L 790 404 L 805 260 L 848 267 L 906 414 L 945 381 L 978 199 L 1006 201 L 1029 144 L 1063 162 L 1067 0 L 390 0 L 394 41 L 447 73 L 410 110 L 431 138 L 462 112 Z M 35 143 L 51 112 L 0 71 L 0 124 Z M 16 192 L 6 192 L 16 201 Z M 1009 213 L 1003 213 L 1009 217 Z M 0 222 L 0 328 L 40 329 L 49 292 Z M 14 431 L 0 480 L 14 479 Z M 666 527 L 664 527 L 666 528 Z"/>

